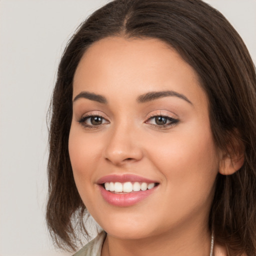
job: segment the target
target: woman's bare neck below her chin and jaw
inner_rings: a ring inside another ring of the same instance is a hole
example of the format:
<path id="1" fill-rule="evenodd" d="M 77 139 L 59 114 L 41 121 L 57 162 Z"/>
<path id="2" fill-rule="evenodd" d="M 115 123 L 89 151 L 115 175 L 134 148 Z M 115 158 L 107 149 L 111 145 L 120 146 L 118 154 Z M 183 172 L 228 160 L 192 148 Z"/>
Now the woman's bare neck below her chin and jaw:
<path id="1" fill-rule="evenodd" d="M 207 227 L 180 228 L 140 239 L 119 239 L 107 234 L 102 256 L 205 256 L 210 254 L 211 233 Z"/>

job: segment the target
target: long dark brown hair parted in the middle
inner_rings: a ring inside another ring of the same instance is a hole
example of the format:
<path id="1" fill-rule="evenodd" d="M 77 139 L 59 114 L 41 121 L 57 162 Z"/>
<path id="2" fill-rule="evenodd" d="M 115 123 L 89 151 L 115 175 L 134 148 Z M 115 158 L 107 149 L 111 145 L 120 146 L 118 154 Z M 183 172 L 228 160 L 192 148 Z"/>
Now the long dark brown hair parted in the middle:
<path id="1" fill-rule="evenodd" d="M 242 39 L 225 17 L 201 0 L 114 0 L 92 13 L 61 57 L 49 118 L 46 220 L 59 247 L 75 250 L 85 228 L 86 206 L 75 186 L 68 154 L 74 72 L 86 49 L 107 36 L 158 38 L 196 71 L 208 99 L 217 149 L 237 144 L 242 167 L 217 174 L 209 213 L 216 242 L 230 255 L 256 254 L 256 75 Z"/>

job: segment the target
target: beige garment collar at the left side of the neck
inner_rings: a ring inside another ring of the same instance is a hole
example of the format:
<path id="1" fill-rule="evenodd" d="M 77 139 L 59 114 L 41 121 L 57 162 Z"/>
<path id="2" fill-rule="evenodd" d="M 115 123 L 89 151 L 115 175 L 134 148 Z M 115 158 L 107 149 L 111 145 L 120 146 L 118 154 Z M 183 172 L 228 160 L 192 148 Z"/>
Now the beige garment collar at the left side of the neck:
<path id="1" fill-rule="evenodd" d="M 93 240 L 88 242 L 72 256 L 100 256 L 105 237 L 106 233 L 104 231 L 100 232 Z"/>

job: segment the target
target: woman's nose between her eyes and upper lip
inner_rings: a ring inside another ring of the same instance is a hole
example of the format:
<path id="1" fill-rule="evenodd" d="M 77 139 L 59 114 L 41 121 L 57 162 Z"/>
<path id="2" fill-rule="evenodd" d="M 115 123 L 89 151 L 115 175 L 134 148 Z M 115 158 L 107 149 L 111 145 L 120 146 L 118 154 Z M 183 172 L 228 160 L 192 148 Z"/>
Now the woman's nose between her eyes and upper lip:
<path id="1" fill-rule="evenodd" d="M 136 128 L 129 124 L 113 127 L 109 131 L 104 157 L 114 165 L 140 160 L 143 157 L 143 150 L 139 144 Z"/>

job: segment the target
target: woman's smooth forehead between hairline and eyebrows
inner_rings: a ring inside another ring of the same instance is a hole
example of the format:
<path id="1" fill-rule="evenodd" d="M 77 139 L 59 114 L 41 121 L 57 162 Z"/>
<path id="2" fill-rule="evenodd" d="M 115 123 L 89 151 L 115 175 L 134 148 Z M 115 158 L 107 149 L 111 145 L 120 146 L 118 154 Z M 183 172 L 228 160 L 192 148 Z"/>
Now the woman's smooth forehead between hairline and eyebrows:
<path id="1" fill-rule="evenodd" d="M 205 93 L 194 69 L 155 38 L 106 37 L 83 54 L 73 79 L 73 97 L 86 90 L 107 95 L 175 90 L 196 100 Z"/>

